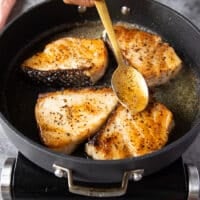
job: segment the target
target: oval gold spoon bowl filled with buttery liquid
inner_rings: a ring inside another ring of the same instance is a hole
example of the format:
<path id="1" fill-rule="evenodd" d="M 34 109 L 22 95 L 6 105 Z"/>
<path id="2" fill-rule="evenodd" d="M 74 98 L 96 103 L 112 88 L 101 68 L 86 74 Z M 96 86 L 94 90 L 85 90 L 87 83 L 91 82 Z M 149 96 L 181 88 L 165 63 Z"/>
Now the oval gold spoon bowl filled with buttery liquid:
<path id="1" fill-rule="evenodd" d="M 149 92 L 141 73 L 130 66 L 118 66 L 111 79 L 111 86 L 119 102 L 133 115 L 144 110 Z"/>

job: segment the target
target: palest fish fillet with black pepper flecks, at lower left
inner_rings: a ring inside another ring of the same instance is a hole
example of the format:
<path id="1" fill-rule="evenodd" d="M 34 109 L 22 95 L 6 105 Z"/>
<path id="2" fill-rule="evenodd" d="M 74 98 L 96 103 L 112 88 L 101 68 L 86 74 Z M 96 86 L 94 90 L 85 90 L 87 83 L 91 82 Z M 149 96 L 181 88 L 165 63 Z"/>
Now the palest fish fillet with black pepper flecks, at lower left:
<path id="1" fill-rule="evenodd" d="M 48 147 L 71 153 L 96 133 L 117 105 L 110 88 L 69 89 L 40 96 L 35 116 Z"/>

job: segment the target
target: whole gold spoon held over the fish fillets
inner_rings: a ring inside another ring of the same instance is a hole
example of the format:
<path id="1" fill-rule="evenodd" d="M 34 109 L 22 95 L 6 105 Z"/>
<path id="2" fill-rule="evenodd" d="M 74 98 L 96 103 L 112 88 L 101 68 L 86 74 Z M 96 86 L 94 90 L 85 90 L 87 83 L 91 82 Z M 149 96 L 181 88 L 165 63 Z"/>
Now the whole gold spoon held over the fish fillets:
<path id="1" fill-rule="evenodd" d="M 111 85 L 120 103 L 132 114 L 145 109 L 149 101 L 146 81 L 140 72 L 127 66 L 120 52 L 105 0 L 95 0 L 95 6 L 111 42 L 118 67 L 114 71 Z"/>

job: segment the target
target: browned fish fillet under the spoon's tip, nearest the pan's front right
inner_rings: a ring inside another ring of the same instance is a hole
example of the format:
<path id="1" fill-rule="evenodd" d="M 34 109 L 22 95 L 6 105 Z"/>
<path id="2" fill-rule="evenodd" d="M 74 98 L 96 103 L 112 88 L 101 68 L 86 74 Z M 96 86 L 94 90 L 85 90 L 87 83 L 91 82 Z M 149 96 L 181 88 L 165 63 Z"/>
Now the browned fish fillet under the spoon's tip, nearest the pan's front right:
<path id="1" fill-rule="evenodd" d="M 160 103 L 149 104 L 134 116 L 119 105 L 104 128 L 86 144 L 86 152 L 98 160 L 142 156 L 162 148 L 172 127 L 173 115 Z"/>

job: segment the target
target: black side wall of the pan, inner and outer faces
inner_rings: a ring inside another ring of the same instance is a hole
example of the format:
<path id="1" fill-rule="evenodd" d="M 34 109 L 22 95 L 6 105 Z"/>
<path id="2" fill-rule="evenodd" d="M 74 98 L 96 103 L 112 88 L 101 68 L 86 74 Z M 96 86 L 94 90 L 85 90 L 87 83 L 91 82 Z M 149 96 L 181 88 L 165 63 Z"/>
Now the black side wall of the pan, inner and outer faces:
<path id="1" fill-rule="evenodd" d="M 108 1 L 108 6 L 116 21 L 120 19 L 121 21 L 141 24 L 161 34 L 176 48 L 185 62 L 192 61 L 192 66 L 196 66 L 195 71 L 200 75 L 198 50 L 200 34 L 184 18 L 153 1 L 129 0 L 122 2 L 119 0 L 118 2 L 116 0 L 113 5 L 110 2 Z M 134 8 L 131 17 L 118 14 L 122 5 Z M 26 12 L 7 27 L 0 37 L 0 87 L 2 88 L 0 109 L 5 118 L 8 119 L 9 113 L 5 109 L 3 91 L 6 89 L 6 85 L 3 81 L 6 73 L 9 73 L 7 66 L 9 66 L 11 59 L 22 47 L 46 30 L 67 22 L 83 22 L 85 19 L 97 19 L 94 8 L 85 14 L 78 14 L 75 6 L 64 6 L 60 0 L 54 0 Z M 101 162 L 53 153 L 28 139 L 24 136 L 25 134 L 22 135 L 13 129 L 5 120 L 0 119 L 0 122 L 12 143 L 28 159 L 51 172 L 53 172 L 53 163 L 60 164 L 72 169 L 75 179 L 88 182 L 119 182 L 123 172 L 132 169 L 145 169 L 145 175 L 154 173 L 182 155 L 198 134 L 196 126 L 184 137 L 156 153 L 136 159 Z"/>

